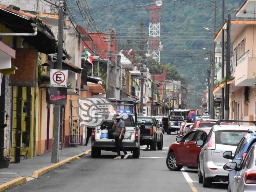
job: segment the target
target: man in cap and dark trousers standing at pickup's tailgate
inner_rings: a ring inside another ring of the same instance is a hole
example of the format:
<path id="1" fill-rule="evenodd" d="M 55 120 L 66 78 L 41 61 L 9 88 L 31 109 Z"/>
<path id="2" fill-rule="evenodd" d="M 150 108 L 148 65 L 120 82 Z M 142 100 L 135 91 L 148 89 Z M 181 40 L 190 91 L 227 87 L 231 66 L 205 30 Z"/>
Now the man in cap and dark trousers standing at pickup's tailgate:
<path id="1" fill-rule="evenodd" d="M 116 119 L 114 120 L 114 125 L 112 126 L 112 129 L 114 129 L 116 133 L 115 147 L 118 153 L 118 156 L 115 157 L 114 159 L 121 159 L 121 153 L 120 153 L 121 150 L 125 154 L 125 157 L 123 157 L 123 159 L 127 159 L 129 155 L 127 154 L 122 144 L 123 137 L 125 136 L 125 122 L 123 122 L 123 120 L 119 115 L 116 115 Z"/>

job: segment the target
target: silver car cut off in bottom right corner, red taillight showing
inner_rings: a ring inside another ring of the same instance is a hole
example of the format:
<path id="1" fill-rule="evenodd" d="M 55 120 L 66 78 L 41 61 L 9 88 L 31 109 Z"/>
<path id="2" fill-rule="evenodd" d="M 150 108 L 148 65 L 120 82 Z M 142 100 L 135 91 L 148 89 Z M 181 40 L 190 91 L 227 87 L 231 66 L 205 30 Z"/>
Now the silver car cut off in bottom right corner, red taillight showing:
<path id="1" fill-rule="evenodd" d="M 232 192 L 255 192 L 256 191 L 256 143 L 249 149 L 242 166 L 241 159 L 234 159 L 226 163 L 223 168 L 227 171 L 239 171 L 229 184 Z"/>

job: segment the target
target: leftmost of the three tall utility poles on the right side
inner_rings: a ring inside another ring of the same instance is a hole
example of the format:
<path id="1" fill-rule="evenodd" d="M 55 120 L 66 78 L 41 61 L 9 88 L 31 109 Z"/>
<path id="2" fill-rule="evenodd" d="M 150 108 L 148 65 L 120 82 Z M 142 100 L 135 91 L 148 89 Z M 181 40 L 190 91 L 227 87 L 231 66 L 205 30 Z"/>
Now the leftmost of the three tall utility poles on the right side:
<path id="1" fill-rule="evenodd" d="M 214 0 L 214 22 L 213 22 L 213 34 L 215 35 L 216 28 L 216 0 Z M 214 76 L 215 76 L 215 41 L 213 40 L 213 60 L 211 66 L 211 102 L 210 102 L 210 119 L 213 119 L 214 116 L 214 97 L 213 97 L 213 88 L 214 88 Z"/>

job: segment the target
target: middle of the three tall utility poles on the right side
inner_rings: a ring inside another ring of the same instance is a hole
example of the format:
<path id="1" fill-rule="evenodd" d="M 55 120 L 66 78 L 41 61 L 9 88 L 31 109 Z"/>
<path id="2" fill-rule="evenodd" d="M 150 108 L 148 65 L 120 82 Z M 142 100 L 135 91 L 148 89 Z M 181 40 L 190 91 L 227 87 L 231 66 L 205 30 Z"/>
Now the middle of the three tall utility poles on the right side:
<path id="1" fill-rule="evenodd" d="M 222 0 L 222 24 L 224 23 L 225 0 Z M 224 79 L 224 30 L 221 36 L 221 79 Z M 224 87 L 221 88 L 221 119 L 224 119 Z"/>

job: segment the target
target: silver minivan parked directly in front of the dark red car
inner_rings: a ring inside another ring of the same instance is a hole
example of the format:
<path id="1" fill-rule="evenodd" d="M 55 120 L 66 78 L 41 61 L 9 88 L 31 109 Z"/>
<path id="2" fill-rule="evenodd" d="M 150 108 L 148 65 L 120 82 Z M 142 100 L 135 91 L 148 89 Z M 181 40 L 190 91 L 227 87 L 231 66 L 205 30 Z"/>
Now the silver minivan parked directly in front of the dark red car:
<path id="1" fill-rule="evenodd" d="M 228 171 L 223 169 L 223 165 L 230 160 L 222 156 L 223 152 L 228 150 L 235 153 L 241 138 L 250 129 L 256 128 L 244 125 L 214 125 L 205 143 L 197 141 L 198 146 L 204 145 L 198 161 L 199 183 L 202 183 L 204 187 L 211 187 L 212 182 L 228 180 Z"/>

